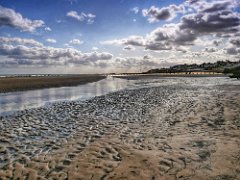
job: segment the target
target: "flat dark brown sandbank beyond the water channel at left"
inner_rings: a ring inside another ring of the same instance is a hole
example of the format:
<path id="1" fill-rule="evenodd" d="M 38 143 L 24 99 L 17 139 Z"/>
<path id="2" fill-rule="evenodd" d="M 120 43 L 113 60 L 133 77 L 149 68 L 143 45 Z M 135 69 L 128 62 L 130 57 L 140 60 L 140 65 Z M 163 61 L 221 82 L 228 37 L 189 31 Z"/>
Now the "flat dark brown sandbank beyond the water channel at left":
<path id="1" fill-rule="evenodd" d="M 62 86 L 76 86 L 104 79 L 104 75 L 0 77 L 0 93 Z"/>

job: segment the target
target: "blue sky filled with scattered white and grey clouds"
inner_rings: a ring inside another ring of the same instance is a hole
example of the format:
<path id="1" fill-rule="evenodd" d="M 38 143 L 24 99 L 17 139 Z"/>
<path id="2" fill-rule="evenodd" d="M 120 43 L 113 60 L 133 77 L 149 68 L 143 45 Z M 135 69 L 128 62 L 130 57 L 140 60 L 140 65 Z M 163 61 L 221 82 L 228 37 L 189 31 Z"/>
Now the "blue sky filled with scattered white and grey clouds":
<path id="1" fill-rule="evenodd" d="M 240 60 L 238 0 L 0 0 L 0 74 Z"/>

